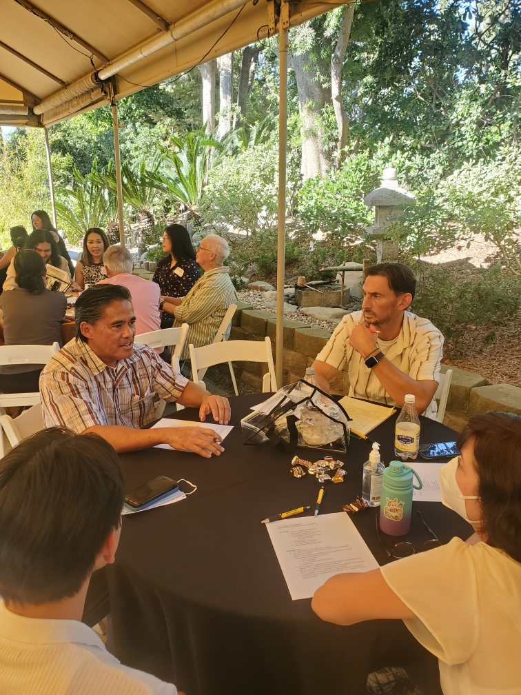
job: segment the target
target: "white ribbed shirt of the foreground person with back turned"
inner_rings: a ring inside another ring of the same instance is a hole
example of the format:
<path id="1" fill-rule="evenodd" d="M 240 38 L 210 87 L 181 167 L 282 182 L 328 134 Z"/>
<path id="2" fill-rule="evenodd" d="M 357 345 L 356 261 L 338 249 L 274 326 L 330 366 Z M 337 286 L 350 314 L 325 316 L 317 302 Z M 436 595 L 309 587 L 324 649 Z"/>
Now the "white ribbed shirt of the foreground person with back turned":
<path id="1" fill-rule="evenodd" d="M 76 620 L 25 618 L 0 601 L 2 695 L 176 695 L 175 685 L 122 666 Z"/>

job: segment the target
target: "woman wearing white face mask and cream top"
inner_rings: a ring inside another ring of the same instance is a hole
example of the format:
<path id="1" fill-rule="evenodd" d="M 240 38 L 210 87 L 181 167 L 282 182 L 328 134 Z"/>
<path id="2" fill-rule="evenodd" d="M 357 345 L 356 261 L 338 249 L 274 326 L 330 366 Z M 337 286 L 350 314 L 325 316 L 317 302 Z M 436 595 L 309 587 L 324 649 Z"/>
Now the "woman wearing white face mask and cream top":
<path id="1" fill-rule="evenodd" d="M 312 607 L 338 625 L 403 619 L 438 657 L 444 695 L 521 695 L 521 416 L 471 418 L 458 449 L 440 470 L 442 500 L 472 523 L 474 544 L 336 575 Z"/>

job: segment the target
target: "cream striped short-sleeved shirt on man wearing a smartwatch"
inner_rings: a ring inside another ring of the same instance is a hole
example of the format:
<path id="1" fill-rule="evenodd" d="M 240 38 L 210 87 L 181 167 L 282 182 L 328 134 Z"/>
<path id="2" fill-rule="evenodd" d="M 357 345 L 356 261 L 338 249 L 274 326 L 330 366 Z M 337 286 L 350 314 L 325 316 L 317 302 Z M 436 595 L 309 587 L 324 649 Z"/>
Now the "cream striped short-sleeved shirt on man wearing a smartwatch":
<path id="1" fill-rule="evenodd" d="M 349 375 L 349 395 L 396 405 L 383 388 L 377 375 L 365 366 L 359 352 L 349 345 L 355 325 L 363 321 L 363 311 L 348 313 L 342 318 L 329 341 L 317 354 L 317 359 Z M 401 372 L 416 381 L 440 381 L 440 362 L 443 354 L 443 335 L 427 318 L 410 311 L 404 312 L 402 330 L 394 341 L 377 340 L 387 359 Z M 427 416 L 436 413 L 436 402 L 427 408 Z"/>

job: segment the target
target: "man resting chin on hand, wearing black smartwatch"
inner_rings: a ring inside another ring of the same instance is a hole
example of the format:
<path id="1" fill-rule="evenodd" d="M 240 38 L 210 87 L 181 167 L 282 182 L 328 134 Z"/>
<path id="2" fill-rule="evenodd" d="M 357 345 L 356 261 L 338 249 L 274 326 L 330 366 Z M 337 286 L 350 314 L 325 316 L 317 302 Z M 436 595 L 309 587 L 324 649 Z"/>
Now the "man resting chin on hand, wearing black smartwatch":
<path id="1" fill-rule="evenodd" d="M 403 263 L 365 270 L 362 311 L 342 318 L 313 363 L 324 391 L 345 370 L 350 396 L 402 407 L 413 393 L 418 413 L 436 419 L 443 335 L 406 311 L 415 291 L 416 278 Z"/>

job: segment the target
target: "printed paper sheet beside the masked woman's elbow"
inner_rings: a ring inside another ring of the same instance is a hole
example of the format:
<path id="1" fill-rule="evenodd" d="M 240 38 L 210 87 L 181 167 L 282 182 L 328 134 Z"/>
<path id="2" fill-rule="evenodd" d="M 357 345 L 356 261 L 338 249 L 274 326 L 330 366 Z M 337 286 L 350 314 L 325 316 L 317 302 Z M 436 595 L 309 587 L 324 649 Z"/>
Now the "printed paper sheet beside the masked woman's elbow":
<path id="1" fill-rule="evenodd" d="M 294 601 L 311 598 L 340 572 L 379 567 L 345 512 L 273 521 L 266 528 Z"/>

